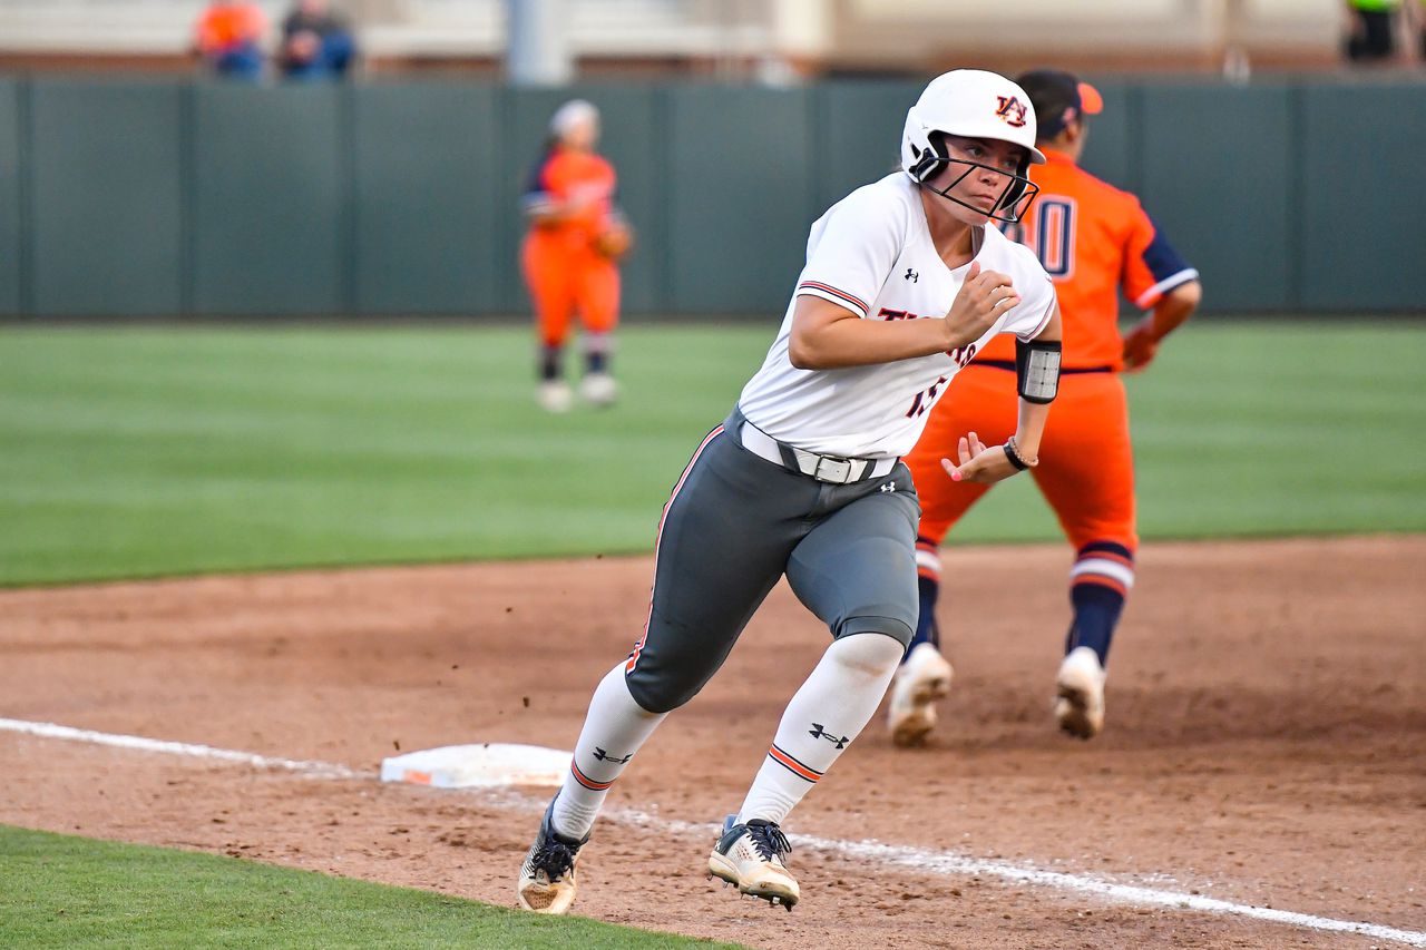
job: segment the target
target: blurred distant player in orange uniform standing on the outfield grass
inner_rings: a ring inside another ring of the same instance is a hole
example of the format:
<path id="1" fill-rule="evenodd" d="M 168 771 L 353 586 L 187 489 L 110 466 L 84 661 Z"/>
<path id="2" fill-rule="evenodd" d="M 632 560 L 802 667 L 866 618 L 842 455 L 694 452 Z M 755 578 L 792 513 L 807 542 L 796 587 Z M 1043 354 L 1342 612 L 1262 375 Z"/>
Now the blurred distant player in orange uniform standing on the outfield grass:
<path id="1" fill-rule="evenodd" d="M 619 322 L 617 261 L 632 241 L 615 208 L 615 168 L 595 154 L 599 110 L 583 100 L 560 106 L 549 123 L 550 144 L 530 174 L 525 213 L 523 268 L 540 337 L 538 398 L 550 412 L 570 407 L 563 352 L 579 311 L 585 328 L 580 395 L 593 405 L 613 402 L 610 335 Z"/>

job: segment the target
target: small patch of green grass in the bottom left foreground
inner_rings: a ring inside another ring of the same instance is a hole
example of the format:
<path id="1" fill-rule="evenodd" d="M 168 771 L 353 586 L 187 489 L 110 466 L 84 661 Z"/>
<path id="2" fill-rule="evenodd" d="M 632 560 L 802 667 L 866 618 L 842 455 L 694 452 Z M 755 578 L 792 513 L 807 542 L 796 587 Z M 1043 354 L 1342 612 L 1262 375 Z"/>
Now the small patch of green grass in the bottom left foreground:
<path id="1" fill-rule="evenodd" d="M 3 947 L 737 950 L 232 857 L 4 826 L 0 864 Z"/>

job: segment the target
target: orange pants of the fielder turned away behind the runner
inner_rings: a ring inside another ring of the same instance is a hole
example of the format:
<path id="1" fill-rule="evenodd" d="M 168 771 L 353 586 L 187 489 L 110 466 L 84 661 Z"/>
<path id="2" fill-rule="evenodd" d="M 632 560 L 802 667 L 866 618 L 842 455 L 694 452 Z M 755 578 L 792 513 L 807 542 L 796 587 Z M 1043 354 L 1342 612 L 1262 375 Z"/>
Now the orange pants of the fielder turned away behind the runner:
<path id="1" fill-rule="evenodd" d="M 1015 371 L 971 364 L 951 379 L 906 464 L 921 498 L 920 536 L 940 546 L 988 485 L 953 482 L 941 459 L 957 461 L 967 432 L 998 445 L 1015 432 Z M 1138 548 L 1134 454 L 1124 382 L 1114 372 L 1067 374 L 1040 444 L 1035 484 L 1075 549 L 1109 541 Z"/>

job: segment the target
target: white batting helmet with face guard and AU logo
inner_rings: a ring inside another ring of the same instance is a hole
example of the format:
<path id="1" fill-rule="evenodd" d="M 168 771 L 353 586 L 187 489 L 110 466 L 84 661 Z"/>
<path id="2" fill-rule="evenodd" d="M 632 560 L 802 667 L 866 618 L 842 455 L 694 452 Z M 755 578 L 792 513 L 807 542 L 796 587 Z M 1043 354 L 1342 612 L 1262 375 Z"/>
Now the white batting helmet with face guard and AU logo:
<path id="1" fill-rule="evenodd" d="M 995 138 L 1024 147 L 1025 160 L 1007 185 L 1000 204 L 995 205 L 995 210 L 1007 217 L 991 215 L 1018 221 L 1030 203 L 1025 201 L 1024 207 L 1018 208 L 1017 204 L 1027 197 L 1034 198 L 1034 185 L 1025 173 L 1031 164 L 1038 165 L 1045 161 L 1044 153 L 1035 148 L 1035 108 L 1025 90 L 998 73 L 984 70 L 953 70 L 931 80 L 915 100 L 915 106 L 907 110 L 906 131 L 901 136 L 901 167 L 923 184 L 941 164 L 960 161 L 950 158 L 944 145 L 933 138 L 935 133 Z M 960 164 L 975 163 L 960 161 Z M 951 183 L 945 191 L 954 184 Z"/>

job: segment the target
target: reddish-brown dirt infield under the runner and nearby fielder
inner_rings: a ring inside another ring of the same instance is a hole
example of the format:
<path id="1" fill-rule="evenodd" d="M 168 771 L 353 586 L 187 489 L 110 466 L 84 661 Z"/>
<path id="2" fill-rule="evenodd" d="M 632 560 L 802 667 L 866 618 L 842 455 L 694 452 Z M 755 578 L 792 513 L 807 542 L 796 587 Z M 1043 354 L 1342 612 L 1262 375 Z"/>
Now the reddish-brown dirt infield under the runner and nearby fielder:
<path id="1" fill-rule="evenodd" d="M 1061 546 L 947 551 L 955 689 L 925 749 L 878 717 L 796 834 L 1426 930 L 1426 536 L 1151 545 L 1108 727 L 1058 736 Z M 647 606 L 647 559 L 0 592 L 0 716 L 375 769 L 395 749 L 568 749 Z M 1370 947 L 1390 940 L 800 847 L 791 914 L 702 867 L 826 632 L 779 588 L 650 740 L 576 910 L 761 947 Z M 543 792 L 540 796 L 546 795 Z M 513 903 L 530 796 L 314 779 L 0 732 L 0 823 Z M 796 846 L 796 837 L 794 837 Z"/>

